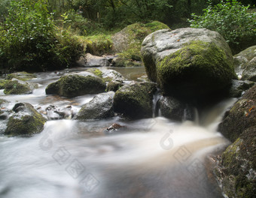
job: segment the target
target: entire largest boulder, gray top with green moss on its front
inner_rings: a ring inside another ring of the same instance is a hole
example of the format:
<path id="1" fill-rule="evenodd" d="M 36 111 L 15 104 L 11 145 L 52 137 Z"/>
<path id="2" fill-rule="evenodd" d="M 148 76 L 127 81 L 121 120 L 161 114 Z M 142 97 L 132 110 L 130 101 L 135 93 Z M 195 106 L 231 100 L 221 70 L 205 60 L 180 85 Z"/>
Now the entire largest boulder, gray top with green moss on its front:
<path id="1" fill-rule="evenodd" d="M 145 37 L 141 52 L 148 78 L 160 83 L 165 95 L 202 98 L 236 78 L 226 41 L 205 28 L 155 31 Z"/>

